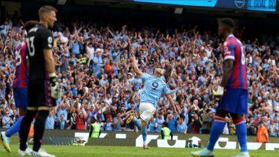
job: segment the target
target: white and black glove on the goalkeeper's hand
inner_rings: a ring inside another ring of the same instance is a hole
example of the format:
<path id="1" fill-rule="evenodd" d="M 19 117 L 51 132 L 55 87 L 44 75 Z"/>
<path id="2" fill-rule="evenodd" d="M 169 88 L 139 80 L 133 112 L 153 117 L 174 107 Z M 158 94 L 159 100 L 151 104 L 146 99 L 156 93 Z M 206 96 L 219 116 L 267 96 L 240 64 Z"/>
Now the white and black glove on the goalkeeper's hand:
<path id="1" fill-rule="evenodd" d="M 55 100 L 60 98 L 62 95 L 62 89 L 60 84 L 57 82 L 57 76 L 55 73 L 50 74 L 50 92 L 52 98 Z"/>

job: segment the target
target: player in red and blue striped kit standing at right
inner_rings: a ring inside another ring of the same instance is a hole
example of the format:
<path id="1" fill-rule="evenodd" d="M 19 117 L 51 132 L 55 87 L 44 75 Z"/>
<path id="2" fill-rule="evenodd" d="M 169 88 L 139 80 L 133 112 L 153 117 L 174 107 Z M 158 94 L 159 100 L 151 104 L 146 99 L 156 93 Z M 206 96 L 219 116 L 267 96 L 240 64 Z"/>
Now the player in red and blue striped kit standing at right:
<path id="1" fill-rule="evenodd" d="M 216 97 L 222 96 L 216 107 L 216 117 L 211 128 L 209 143 L 206 149 L 192 153 L 196 157 L 213 157 L 213 148 L 223 133 L 225 117 L 230 114 L 236 126 L 241 153 L 236 157 L 250 157 L 247 149 L 247 128 L 245 114 L 248 113 L 248 81 L 246 73 L 246 56 L 241 41 L 234 37 L 234 21 L 229 18 L 220 20 L 218 34 L 225 39 L 223 50 L 223 80 Z"/>

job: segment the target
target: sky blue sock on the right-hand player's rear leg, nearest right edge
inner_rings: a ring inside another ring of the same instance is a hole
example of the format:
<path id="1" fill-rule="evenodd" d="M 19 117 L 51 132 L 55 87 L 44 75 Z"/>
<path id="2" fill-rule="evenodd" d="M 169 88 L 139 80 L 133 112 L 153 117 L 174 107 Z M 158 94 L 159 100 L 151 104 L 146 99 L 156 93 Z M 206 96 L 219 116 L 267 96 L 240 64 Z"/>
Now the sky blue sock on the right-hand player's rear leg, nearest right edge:
<path id="1" fill-rule="evenodd" d="M 243 121 L 241 121 L 239 124 L 236 124 L 236 136 L 237 139 L 239 140 L 241 152 L 248 151 L 247 128 L 246 128 L 245 119 L 243 119 Z"/>

